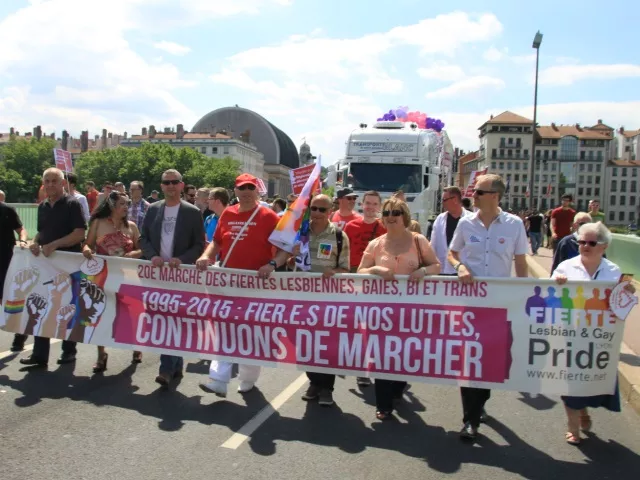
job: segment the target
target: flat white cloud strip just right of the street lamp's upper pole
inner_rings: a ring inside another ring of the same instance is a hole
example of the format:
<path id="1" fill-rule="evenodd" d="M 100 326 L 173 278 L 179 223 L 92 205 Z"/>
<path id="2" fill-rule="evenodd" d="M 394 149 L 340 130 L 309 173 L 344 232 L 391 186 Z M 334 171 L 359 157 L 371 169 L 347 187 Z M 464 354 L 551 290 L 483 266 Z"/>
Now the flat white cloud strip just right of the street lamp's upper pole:
<path id="1" fill-rule="evenodd" d="M 640 77 L 640 65 L 563 65 L 549 67 L 540 72 L 543 85 L 573 85 L 581 80 L 614 80 Z"/>

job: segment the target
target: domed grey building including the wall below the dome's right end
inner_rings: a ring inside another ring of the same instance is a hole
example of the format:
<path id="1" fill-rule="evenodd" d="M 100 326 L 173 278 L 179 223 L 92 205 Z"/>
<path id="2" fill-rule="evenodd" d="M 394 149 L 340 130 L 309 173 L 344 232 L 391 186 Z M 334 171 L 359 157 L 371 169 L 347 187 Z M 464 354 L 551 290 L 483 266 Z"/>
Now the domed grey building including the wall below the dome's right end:
<path id="1" fill-rule="evenodd" d="M 264 155 L 264 181 L 269 196 L 291 192 L 289 171 L 300 166 L 298 149 L 289 136 L 256 112 L 246 108 L 224 107 L 204 115 L 191 129 L 193 133 L 225 131 L 250 132 L 251 142 Z"/>

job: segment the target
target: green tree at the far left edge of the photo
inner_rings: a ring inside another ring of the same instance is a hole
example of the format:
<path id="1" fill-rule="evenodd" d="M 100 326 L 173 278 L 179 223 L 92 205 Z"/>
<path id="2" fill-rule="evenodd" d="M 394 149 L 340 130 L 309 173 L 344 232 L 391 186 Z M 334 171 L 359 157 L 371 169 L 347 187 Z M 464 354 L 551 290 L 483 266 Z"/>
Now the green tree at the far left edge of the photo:
<path id="1" fill-rule="evenodd" d="M 42 172 L 55 165 L 55 140 L 11 137 L 0 148 L 0 189 L 9 202 L 33 202 L 38 197 Z"/>

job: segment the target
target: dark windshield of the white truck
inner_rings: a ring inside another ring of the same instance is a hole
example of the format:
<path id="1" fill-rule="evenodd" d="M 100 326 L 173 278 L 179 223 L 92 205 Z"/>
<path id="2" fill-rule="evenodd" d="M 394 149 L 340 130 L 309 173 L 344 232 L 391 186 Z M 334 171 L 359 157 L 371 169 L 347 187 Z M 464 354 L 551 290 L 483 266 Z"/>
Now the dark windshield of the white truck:
<path id="1" fill-rule="evenodd" d="M 378 192 L 420 193 L 422 191 L 422 167 L 389 163 L 352 163 L 351 182 L 354 190 Z"/>

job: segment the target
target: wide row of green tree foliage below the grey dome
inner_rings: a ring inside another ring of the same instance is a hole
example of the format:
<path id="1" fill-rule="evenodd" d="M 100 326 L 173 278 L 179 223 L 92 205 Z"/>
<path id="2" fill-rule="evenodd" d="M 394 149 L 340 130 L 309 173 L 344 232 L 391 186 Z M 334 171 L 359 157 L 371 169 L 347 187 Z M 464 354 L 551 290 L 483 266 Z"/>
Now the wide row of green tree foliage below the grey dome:
<path id="1" fill-rule="evenodd" d="M 75 163 L 81 185 L 93 180 L 97 188 L 106 181 L 144 182 L 145 195 L 157 190 L 162 172 L 174 168 L 186 184 L 233 188 L 240 163 L 231 157 L 209 158 L 192 148 L 145 143 L 140 148 L 117 147 L 82 154 Z"/>

